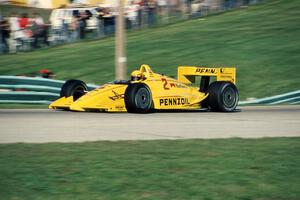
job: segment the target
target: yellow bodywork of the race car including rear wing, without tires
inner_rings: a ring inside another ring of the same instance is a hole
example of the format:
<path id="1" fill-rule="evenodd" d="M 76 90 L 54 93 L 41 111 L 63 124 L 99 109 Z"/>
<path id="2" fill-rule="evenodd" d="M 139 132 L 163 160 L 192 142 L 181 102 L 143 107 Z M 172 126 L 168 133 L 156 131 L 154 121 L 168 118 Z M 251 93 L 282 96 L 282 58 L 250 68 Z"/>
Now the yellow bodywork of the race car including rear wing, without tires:
<path id="1" fill-rule="evenodd" d="M 144 83 L 152 93 L 153 108 L 157 110 L 200 109 L 201 102 L 208 93 L 200 87 L 187 84 L 195 82 L 196 76 L 216 77 L 217 81 L 229 81 L 235 84 L 235 68 L 208 68 L 195 66 L 178 67 L 178 80 L 154 73 L 148 65 L 142 65 L 140 71 L 144 78 L 139 81 L 112 82 L 87 92 L 73 101 L 73 97 L 61 97 L 50 104 L 50 109 L 74 111 L 126 112 L 124 101 L 128 84 Z"/>

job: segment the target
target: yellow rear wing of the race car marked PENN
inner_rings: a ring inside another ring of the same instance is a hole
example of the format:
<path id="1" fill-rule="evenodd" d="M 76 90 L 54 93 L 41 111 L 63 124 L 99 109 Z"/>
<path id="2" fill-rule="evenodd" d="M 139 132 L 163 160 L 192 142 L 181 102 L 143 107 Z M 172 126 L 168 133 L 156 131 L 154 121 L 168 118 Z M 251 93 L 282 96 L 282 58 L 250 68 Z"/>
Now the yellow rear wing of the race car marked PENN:
<path id="1" fill-rule="evenodd" d="M 202 76 L 204 79 L 209 79 L 209 77 L 214 76 L 217 78 L 217 81 L 229 81 L 235 84 L 236 68 L 234 67 L 209 68 L 209 67 L 196 67 L 196 66 L 178 67 L 177 77 L 179 82 L 187 83 L 187 84 L 195 83 L 196 76 Z"/>

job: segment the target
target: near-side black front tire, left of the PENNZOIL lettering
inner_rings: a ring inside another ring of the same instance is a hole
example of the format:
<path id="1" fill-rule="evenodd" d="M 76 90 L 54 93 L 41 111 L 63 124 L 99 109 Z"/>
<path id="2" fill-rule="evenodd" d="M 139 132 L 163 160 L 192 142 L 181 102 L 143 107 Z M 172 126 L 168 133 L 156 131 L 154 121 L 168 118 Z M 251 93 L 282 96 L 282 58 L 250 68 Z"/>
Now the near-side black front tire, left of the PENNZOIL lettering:
<path id="1" fill-rule="evenodd" d="M 144 83 L 129 84 L 124 99 L 127 112 L 149 113 L 153 109 L 151 90 Z"/>

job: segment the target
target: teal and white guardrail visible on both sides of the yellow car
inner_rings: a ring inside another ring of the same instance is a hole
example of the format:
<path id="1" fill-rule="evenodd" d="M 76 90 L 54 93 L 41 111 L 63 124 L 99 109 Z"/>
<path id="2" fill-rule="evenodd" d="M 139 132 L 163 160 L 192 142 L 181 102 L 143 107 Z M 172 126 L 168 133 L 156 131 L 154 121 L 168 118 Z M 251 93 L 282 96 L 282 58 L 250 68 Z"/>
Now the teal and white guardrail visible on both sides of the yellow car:
<path id="1" fill-rule="evenodd" d="M 40 77 L 0 76 L 0 103 L 49 104 L 59 98 L 64 83 Z M 99 87 L 93 84 L 87 86 L 88 90 Z M 300 104 L 300 90 L 239 102 L 239 105 L 255 104 Z"/>

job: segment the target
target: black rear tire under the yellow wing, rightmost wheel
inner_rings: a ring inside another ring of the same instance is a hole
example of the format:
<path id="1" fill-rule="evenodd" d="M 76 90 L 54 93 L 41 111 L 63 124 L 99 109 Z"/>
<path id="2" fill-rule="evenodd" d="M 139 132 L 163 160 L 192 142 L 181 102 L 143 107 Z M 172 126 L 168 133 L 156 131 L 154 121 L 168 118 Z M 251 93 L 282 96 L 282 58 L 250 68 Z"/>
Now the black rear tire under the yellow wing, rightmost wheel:
<path id="1" fill-rule="evenodd" d="M 236 86 L 227 81 L 216 81 L 208 87 L 208 105 L 217 112 L 233 112 L 239 101 Z"/>

